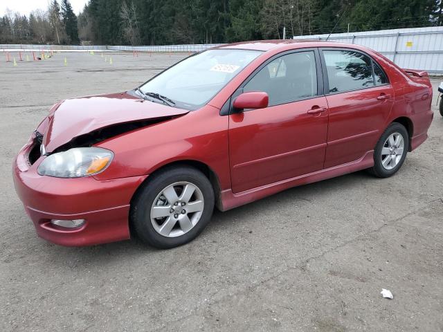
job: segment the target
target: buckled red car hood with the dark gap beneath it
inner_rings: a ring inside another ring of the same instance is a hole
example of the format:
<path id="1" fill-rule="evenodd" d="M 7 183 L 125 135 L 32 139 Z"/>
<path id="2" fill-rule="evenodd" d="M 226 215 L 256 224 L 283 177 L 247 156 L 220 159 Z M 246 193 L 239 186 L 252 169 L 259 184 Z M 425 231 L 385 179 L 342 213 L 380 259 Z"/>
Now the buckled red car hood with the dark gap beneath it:
<path id="1" fill-rule="evenodd" d="M 28 162 L 166 122 L 189 111 L 141 100 L 128 93 L 64 100 L 55 104 L 33 134 Z"/>

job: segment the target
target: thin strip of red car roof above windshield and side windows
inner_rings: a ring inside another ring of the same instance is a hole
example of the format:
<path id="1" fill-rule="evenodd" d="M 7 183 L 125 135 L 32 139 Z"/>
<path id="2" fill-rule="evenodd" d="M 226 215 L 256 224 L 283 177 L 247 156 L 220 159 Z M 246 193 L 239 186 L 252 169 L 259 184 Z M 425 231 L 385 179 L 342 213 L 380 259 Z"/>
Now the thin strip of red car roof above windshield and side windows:
<path id="1" fill-rule="evenodd" d="M 255 40 L 251 42 L 238 42 L 233 44 L 224 44 L 215 47 L 216 49 L 241 49 L 241 50 L 261 50 L 268 51 L 275 48 L 282 50 L 290 50 L 294 48 L 308 47 L 343 47 L 366 50 L 365 47 L 356 44 L 345 44 L 336 42 L 327 42 L 318 39 L 271 39 L 271 40 Z"/>

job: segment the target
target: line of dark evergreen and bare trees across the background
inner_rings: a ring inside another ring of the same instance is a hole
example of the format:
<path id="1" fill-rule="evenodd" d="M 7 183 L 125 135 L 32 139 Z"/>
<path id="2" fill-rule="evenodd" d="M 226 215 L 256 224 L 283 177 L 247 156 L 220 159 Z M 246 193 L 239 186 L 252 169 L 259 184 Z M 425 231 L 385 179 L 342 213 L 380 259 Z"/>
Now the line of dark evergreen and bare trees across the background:
<path id="1" fill-rule="evenodd" d="M 69 0 L 0 18 L 0 43 L 163 45 L 442 25 L 443 0 Z"/>

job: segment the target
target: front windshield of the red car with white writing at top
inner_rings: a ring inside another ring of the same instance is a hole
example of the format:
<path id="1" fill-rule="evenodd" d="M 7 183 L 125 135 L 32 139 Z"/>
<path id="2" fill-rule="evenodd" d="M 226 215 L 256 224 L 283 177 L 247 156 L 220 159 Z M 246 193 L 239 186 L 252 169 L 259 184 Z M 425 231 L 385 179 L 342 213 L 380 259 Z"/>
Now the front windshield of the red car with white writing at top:
<path id="1" fill-rule="evenodd" d="M 188 57 L 143 84 L 143 93 L 156 93 L 177 107 L 198 109 L 262 52 L 206 50 Z"/>

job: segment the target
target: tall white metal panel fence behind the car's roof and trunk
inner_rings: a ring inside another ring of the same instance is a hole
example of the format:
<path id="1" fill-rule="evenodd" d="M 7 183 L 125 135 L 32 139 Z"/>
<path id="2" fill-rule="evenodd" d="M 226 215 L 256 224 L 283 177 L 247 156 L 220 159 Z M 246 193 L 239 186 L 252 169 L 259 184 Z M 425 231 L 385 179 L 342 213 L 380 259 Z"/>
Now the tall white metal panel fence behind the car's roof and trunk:
<path id="1" fill-rule="evenodd" d="M 293 39 L 325 40 L 327 36 L 294 36 Z M 367 46 L 385 55 L 401 68 L 443 73 L 443 26 L 334 33 L 328 40 Z"/>

